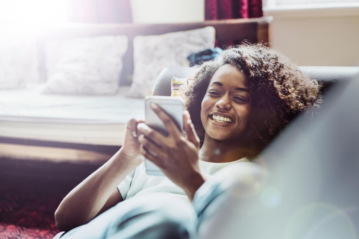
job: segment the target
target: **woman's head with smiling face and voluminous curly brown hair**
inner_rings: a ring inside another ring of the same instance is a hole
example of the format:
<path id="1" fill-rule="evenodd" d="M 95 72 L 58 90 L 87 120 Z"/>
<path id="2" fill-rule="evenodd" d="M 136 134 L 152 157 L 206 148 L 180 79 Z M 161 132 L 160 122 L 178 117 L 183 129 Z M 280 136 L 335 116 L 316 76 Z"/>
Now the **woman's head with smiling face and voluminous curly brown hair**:
<path id="1" fill-rule="evenodd" d="M 202 64 L 187 88 L 186 108 L 201 143 L 208 137 L 221 140 L 241 148 L 248 158 L 295 116 L 312 112 L 321 102 L 318 82 L 263 44 L 225 50 L 217 60 Z"/>

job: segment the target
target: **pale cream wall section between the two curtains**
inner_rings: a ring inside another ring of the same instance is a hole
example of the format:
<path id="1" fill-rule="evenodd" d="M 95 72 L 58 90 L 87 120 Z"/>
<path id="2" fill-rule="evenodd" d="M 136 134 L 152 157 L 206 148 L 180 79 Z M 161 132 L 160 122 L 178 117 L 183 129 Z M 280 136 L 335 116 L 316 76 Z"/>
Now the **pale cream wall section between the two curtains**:
<path id="1" fill-rule="evenodd" d="M 131 0 L 135 23 L 204 21 L 204 0 Z"/>

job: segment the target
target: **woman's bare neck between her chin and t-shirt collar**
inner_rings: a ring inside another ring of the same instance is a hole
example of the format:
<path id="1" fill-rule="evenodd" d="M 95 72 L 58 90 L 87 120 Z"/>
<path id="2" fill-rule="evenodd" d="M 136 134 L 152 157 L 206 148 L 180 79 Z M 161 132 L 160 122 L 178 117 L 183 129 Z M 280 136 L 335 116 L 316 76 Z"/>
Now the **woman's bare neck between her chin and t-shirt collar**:
<path id="1" fill-rule="evenodd" d="M 246 150 L 238 145 L 238 142 L 219 142 L 210 138 L 207 134 L 199 152 L 201 161 L 213 163 L 227 163 L 246 157 Z"/>

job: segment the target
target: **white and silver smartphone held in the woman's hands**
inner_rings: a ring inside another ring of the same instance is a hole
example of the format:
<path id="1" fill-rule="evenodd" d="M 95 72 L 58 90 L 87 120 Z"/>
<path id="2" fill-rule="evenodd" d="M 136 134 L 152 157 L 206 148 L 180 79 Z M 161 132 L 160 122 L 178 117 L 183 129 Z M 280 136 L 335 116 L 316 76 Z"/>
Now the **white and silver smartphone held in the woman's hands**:
<path id="1" fill-rule="evenodd" d="M 178 130 L 183 132 L 183 100 L 181 97 L 147 96 L 145 98 L 145 124 L 167 136 L 168 132 L 163 125 L 162 120 L 158 118 L 157 114 L 154 113 L 150 107 L 151 102 L 154 102 L 161 107 L 165 113 L 172 118 Z M 164 176 L 161 169 L 148 159 L 145 160 L 145 165 L 146 173 L 148 175 Z"/>

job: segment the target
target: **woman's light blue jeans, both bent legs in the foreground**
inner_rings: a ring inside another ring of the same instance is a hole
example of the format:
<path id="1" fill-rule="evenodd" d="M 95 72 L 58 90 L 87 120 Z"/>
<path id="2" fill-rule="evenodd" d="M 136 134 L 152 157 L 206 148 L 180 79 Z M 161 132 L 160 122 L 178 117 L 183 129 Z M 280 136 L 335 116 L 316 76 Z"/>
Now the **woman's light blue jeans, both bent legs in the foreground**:
<path id="1" fill-rule="evenodd" d="M 239 165 L 246 163 L 238 163 Z M 239 213 L 233 206 L 225 210 L 228 202 L 231 205 L 238 204 L 238 193 L 233 192 L 241 191 L 242 188 L 248 191 L 248 183 L 242 183 L 245 181 L 243 174 L 238 175 L 236 166 L 230 167 L 227 170 L 229 174 L 224 168 L 221 170 L 222 174 L 206 180 L 197 190 L 192 202 L 192 212 L 183 210 L 188 205 L 184 205 L 182 200 L 173 197 L 171 193 L 154 193 L 145 199 L 142 197 L 120 202 L 89 223 L 63 234 L 61 239 L 220 238 L 213 236 L 223 235 L 223 225 L 230 231 L 235 231 L 231 227 L 238 228 L 236 222 L 230 224 L 232 219 L 226 220 L 231 216 L 236 218 Z M 254 183 L 256 182 L 253 181 Z M 218 221 L 224 224 L 219 225 Z M 209 232 L 211 235 L 208 235 Z"/>

